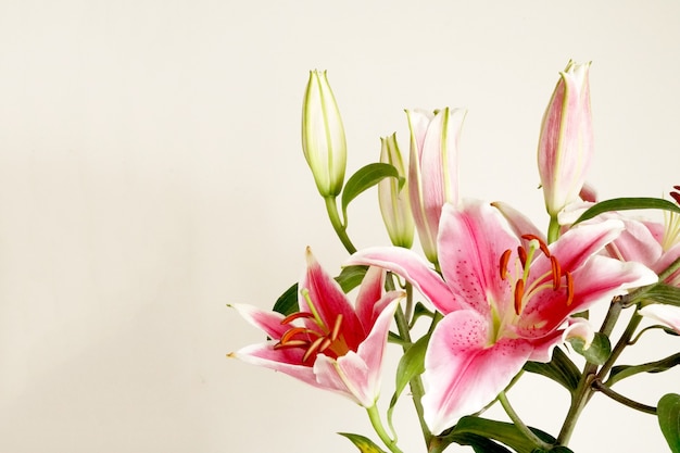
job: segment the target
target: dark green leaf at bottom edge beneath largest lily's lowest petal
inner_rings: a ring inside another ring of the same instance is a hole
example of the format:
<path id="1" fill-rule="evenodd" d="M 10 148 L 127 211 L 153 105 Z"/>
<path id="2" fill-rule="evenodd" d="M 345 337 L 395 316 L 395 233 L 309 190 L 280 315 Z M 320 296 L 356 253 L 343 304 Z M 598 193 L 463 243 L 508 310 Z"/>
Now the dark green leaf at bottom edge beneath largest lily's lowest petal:
<path id="1" fill-rule="evenodd" d="M 529 428 L 536 436 L 546 443 L 555 443 L 556 439 L 551 435 L 541 431 L 540 429 Z M 453 428 L 451 433 L 445 436 L 446 441 L 461 443 L 462 445 L 468 445 L 469 435 L 480 436 L 487 439 L 496 440 L 517 453 L 536 453 L 537 445 L 533 444 L 525 435 L 513 424 L 498 420 L 490 420 L 481 417 L 463 417 Z M 569 453 L 570 450 L 561 448 L 564 453 Z"/>

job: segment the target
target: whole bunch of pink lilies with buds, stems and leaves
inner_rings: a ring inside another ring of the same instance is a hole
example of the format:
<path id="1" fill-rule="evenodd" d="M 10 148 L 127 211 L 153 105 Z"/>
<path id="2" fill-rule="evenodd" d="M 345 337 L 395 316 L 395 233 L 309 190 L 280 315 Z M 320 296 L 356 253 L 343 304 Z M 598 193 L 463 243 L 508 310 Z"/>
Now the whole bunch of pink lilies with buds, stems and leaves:
<path id="1" fill-rule="evenodd" d="M 342 433 L 362 452 L 402 451 L 392 413 L 403 400 L 418 416 L 427 452 L 453 444 L 492 453 L 570 452 L 579 415 L 595 393 L 653 414 L 659 435 L 680 452 L 680 394 L 648 406 L 613 388 L 680 363 L 680 352 L 619 363 L 652 329 L 663 329 L 669 341 L 680 334 L 680 186 L 670 199 L 596 200 L 584 183 L 593 154 L 589 71 L 589 63 L 569 62 L 543 116 L 538 169 L 545 232 L 507 203 L 458 196 L 462 109 L 406 111 L 407 165 L 392 135 L 381 139 L 379 162 L 345 180 L 338 105 L 326 73 L 311 72 L 302 149 L 349 257 L 333 277 L 307 249 L 302 279 L 273 311 L 231 305 L 266 340 L 228 355 L 363 406 L 375 435 Z M 347 207 L 374 186 L 392 246 L 356 250 Z M 638 210 L 662 211 L 665 222 L 641 219 Z M 595 305 L 604 307 L 603 319 L 589 319 Z M 613 335 L 618 323 L 622 334 Z M 403 355 L 381 411 L 391 343 Z M 527 426 L 513 408 L 508 390 L 526 373 L 570 394 L 559 432 Z M 484 416 L 494 404 L 512 421 Z"/>

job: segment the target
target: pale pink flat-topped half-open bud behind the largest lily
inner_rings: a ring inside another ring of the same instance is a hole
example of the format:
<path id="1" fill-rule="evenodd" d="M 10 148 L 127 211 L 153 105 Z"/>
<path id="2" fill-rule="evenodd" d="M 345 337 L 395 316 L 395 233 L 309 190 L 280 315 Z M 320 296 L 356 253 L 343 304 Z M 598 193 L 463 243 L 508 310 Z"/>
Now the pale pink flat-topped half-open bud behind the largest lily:
<path id="1" fill-rule="evenodd" d="M 408 192 L 425 256 L 437 262 L 437 231 L 445 203 L 458 202 L 458 137 L 465 110 L 406 111 L 411 128 Z"/>

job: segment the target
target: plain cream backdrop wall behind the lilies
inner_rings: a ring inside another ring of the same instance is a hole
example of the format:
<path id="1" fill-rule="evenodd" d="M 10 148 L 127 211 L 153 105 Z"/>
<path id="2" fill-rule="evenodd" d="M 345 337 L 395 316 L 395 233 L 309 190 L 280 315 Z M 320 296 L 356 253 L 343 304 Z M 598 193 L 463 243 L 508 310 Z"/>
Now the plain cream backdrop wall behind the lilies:
<path id="1" fill-rule="evenodd" d="M 0 452 L 355 451 L 336 432 L 375 438 L 361 407 L 226 358 L 263 340 L 228 303 L 272 306 L 306 246 L 331 273 L 347 257 L 300 148 L 308 71 L 328 71 L 349 174 L 381 136 L 407 148 L 403 109 L 465 106 L 461 192 L 544 227 L 536 147 L 569 59 L 593 62 L 600 197 L 680 184 L 679 30 L 675 1 L 0 0 Z M 388 243 L 375 191 L 350 235 Z M 679 376 L 618 389 L 656 404 Z M 509 398 L 556 433 L 559 387 L 528 376 Z M 572 442 L 664 445 L 602 395 Z"/>

